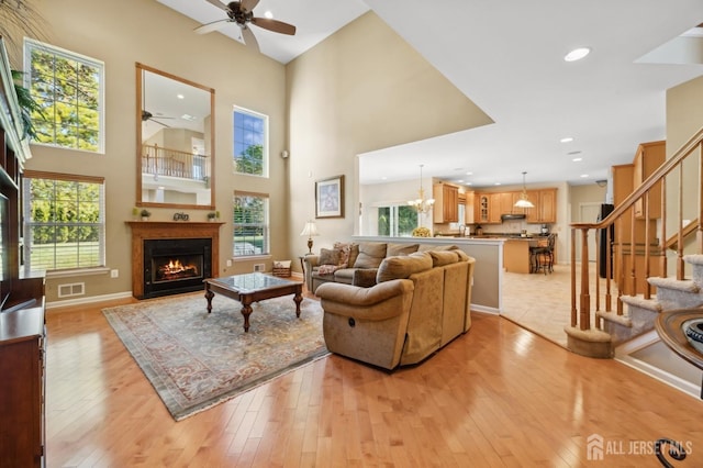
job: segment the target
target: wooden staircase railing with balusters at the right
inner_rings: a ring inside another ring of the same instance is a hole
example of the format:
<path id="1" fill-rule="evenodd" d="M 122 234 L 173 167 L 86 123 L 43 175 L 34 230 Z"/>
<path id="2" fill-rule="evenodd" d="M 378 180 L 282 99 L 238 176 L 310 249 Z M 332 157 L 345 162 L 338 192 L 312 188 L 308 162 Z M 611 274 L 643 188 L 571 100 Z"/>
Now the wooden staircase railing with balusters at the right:
<path id="1" fill-rule="evenodd" d="M 571 224 L 572 328 L 591 331 L 592 312 L 595 312 L 595 330 L 602 330 L 603 315 L 623 315 L 623 291 L 650 299 L 652 287 L 647 278 L 655 276 L 651 275 L 651 266 L 656 266 L 659 275 L 666 277 L 668 255 L 674 257 L 676 278 L 685 279 L 684 252 L 703 253 L 702 153 L 703 129 L 615 207 L 607 218 L 598 223 Z M 660 194 L 657 210 L 649 205 L 650 194 Z M 673 200 L 667 201 L 668 194 Z M 654 218 L 651 212 L 660 213 L 660 216 Z M 684 219 L 684 213 L 689 220 Z M 603 241 L 598 235 L 600 230 L 605 230 Z M 601 267 L 601 257 L 596 256 L 594 272 L 589 269 L 589 236 L 594 236 L 598 252 L 601 242 L 612 252 L 612 255 L 604 256 L 604 268 Z M 581 247 L 580 259 L 576 254 L 578 242 Z M 605 271 L 605 278 L 600 278 L 600 271 Z M 591 285 L 594 285 L 595 291 L 591 290 Z M 615 311 L 613 289 L 617 291 Z"/>

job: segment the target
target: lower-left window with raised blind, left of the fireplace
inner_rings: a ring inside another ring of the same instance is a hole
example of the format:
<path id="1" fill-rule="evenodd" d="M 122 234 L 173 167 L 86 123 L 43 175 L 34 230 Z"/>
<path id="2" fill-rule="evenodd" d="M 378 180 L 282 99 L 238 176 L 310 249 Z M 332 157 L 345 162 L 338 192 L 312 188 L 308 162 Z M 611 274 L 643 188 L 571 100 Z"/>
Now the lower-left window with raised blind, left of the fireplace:
<path id="1" fill-rule="evenodd" d="M 25 269 L 104 266 L 102 178 L 27 170 L 22 204 Z"/>

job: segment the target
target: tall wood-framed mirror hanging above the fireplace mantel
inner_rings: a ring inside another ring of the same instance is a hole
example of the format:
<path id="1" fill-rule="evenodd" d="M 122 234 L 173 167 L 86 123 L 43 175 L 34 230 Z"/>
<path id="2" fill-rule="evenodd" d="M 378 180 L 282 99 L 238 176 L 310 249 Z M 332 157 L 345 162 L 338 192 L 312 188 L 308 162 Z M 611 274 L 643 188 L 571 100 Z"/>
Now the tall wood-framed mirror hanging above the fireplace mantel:
<path id="1" fill-rule="evenodd" d="M 136 64 L 137 204 L 214 209 L 214 90 Z"/>

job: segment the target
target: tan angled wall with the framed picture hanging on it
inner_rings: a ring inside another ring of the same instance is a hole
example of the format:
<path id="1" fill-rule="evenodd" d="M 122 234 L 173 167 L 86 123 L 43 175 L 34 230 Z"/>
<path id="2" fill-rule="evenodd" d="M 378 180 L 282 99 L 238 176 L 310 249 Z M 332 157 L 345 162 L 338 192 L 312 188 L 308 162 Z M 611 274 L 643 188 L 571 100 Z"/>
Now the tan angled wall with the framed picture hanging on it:
<path id="1" fill-rule="evenodd" d="M 346 177 L 345 218 L 319 220 L 317 248 L 358 233 L 358 154 L 491 122 L 372 12 L 288 65 L 288 101 L 293 253 L 315 180 Z"/>

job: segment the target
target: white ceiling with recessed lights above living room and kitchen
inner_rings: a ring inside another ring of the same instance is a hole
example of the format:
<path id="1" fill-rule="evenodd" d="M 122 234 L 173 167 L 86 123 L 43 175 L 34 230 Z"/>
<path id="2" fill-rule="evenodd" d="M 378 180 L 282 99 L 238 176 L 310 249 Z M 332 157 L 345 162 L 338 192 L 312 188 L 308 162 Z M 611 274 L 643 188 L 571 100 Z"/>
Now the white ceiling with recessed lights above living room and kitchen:
<path id="1" fill-rule="evenodd" d="M 223 18 L 205 0 L 158 1 L 198 23 Z M 666 90 L 703 74 L 703 40 L 679 37 L 703 23 L 700 0 L 261 0 L 255 15 L 298 31 L 252 30 L 286 64 L 369 8 L 495 123 L 362 155 L 362 183 L 417 178 L 421 164 L 473 187 L 518 185 L 523 171 L 527 183 L 606 179 L 639 143 L 666 138 Z M 566 63 L 577 46 L 591 55 Z"/>

